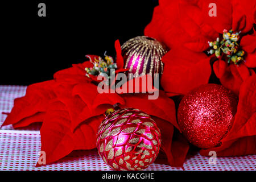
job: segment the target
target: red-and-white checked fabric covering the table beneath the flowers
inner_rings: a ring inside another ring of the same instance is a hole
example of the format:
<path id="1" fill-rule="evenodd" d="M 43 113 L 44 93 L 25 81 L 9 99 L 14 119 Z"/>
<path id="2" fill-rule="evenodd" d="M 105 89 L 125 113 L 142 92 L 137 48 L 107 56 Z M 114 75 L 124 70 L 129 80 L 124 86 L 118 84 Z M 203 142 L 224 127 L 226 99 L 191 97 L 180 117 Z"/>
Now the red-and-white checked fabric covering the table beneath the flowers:
<path id="1" fill-rule="evenodd" d="M 13 107 L 13 100 L 26 93 L 26 86 L 0 85 L 0 125 Z M 110 170 L 96 150 L 73 151 L 65 158 L 42 167 L 35 167 L 40 152 L 39 126 L 34 125 L 22 130 L 11 126 L 0 130 L 0 170 Z M 250 170 L 256 169 L 256 155 L 237 157 L 217 157 L 216 164 L 209 158 L 196 154 L 185 160 L 183 168 L 153 163 L 146 170 Z"/>

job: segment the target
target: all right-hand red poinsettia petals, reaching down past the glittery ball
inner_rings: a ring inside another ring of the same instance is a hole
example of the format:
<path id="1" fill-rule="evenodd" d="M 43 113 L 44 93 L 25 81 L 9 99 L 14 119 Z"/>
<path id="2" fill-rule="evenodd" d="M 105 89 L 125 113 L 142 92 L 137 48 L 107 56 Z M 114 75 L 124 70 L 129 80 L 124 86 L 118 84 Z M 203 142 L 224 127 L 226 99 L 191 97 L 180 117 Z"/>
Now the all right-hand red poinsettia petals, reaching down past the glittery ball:
<path id="1" fill-rule="evenodd" d="M 217 16 L 209 16 L 210 3 L 216 4 Z M 218 156 L 256 154 L 255 150 L 255 10 L 256 1 L 238 0 L 159 0 L 144 34 L 166 44 L 171 51 L 163 56 L 162 86 L 168 96 L 186 94 L 209 81 L 212 74 L 222 85 L 239 94 L 232 129 L 221 146 L 210 150 Z M 224 57 L 209 56 L 209 43 L 224 30 L 240 32 L 240 48 L 246 52 L 240 64 Z M 213 67 L 211 68 L 211 65 Z"/>

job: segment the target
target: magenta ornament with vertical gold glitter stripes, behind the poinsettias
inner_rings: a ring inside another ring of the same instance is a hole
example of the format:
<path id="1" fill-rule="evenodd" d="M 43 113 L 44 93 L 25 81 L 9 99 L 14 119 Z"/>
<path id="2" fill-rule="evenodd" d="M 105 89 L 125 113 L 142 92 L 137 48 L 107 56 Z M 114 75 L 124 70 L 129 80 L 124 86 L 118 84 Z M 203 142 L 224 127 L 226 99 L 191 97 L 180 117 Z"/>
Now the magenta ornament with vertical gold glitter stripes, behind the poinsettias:
<path id="1" fill-rule="evenodd" d="M 128 73 L 136 74 L 135 77 L 142 73 L 162 75 L 164 64 L 161 59 L 168 49 L 158 40 L 148 36 L 137 36 L 125 42 L 121 48 L 124 68 L 129 69 Z"/>

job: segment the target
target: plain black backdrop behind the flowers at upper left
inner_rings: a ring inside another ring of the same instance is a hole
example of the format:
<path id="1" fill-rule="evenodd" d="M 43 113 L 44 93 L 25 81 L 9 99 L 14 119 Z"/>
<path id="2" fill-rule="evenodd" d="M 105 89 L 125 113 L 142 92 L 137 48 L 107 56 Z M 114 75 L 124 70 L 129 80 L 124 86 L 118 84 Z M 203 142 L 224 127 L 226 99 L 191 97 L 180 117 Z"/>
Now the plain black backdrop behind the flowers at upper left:
<path id="1" fill-rule="evenodd" d="M 46 17 L 38 4 L 46 3 Z M 82 63 L 86 54 L 115 56 L 121 44 L 150 22 L 156 0 L 9 1 L 1 3 L 0 85 L 29 85 L 52 79 Z"/>

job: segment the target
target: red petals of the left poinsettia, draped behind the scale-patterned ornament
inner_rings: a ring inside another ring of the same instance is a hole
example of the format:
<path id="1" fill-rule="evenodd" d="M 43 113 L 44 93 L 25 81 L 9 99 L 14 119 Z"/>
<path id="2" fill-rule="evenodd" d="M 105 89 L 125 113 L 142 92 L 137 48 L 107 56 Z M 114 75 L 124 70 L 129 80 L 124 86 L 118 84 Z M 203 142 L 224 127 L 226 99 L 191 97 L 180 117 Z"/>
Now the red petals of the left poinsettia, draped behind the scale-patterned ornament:
<path id="1" fill-rule="evenodd" d="M 124 71 L 119 42 L 115 42 L 115 48 L 116 72 Z M 98 59 L 94 55 L 90 57 Z M 179 129 L 174 101 L 161 90 L 156 100 L 148 100 L 148 94 L 140 93 L 98 93 L 96 77 L 85 76 L 85 68 L 92 67 L 90 61 L 73 64 L 71 68 L 56 72 L 53 80 L 29 85 L 26 95 L 15 99 L 14 107 L 2 126 L 12 124 L 18 128 L 42 122 L 41 150 L 46 152 L 48 164 L 73 150 L 95 148 L 96 133 L 106 109 L 113 108 L 114 104 L 123 108 L 134 107 L 155 118 L 162 130 L 162 150 L 166 152 L 168 162 L 173 166 L 182 166 L 188 144 L 183 144 L 183 152 L 179 152 L 179 147 L 173 147 L 177 143 L 172 141 L 174 127 Z"/>

